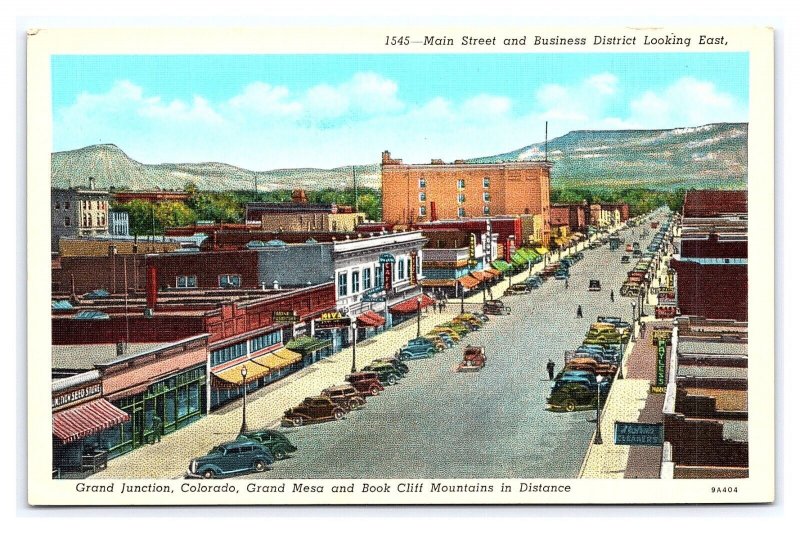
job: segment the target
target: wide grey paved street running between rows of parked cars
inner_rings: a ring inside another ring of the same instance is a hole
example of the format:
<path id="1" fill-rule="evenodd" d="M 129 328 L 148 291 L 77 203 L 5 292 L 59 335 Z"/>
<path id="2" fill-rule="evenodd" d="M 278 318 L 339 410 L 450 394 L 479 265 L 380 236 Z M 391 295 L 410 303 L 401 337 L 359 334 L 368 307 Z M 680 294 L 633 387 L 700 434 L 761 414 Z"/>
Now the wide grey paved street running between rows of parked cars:
<path id="1" fill-rule="evenodd" d="M 639 238 L 641 231 L 622 236 L 646 249 L 654 231 Z M 630 255 L 623 250 L 585 250 L 571 269 L 569 288 L 549 279 L 529 295 L 505 297 L 510 316 L 492 317 L 433 359 L 410 361 L 406 378 L 344 420 L 286 430 L 298 452 L 271 471 L 245 477 L 577 477 L 593 413 L 545 410 L 545 365 L 552 357 L 560 368 L 564 350 L 581 343 L 597 315 L 630 321 L 633 299 L 620 297 L 619 287 L 634 261 L 620 264 Z M 589 279 L 599 279 L 602 290 L 589 292 Z M 576 318 L 579 304 L 583 319 Z M 479 373 L 454 372 L 467 343 L 486 346 L 488 363 Z M 382 355 L 388 354 L 375 354 Z"/>

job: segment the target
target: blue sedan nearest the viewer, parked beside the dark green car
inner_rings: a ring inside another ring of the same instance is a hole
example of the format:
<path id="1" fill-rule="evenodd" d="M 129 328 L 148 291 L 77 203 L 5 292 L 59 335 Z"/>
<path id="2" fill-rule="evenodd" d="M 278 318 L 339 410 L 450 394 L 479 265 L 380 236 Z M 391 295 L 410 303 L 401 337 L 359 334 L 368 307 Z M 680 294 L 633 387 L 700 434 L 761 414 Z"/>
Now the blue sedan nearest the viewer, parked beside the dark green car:
<path id="1" fill-rule="evenodd" d="M 186 476 L 211 479 L 263 472 L 274 462 L 275 458 L 266 446 L 252 440 L 235 440 L 214 446 L 206 455 L 192 459 Z"/>

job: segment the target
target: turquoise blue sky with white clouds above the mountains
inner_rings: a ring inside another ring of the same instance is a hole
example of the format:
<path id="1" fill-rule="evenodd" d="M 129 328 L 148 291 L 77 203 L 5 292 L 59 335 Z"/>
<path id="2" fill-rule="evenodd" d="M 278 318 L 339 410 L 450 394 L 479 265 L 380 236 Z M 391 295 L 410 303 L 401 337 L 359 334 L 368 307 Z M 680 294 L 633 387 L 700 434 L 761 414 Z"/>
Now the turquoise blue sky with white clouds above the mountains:
<path id="1" fill-rule="evenodd" d="M 252 170 L 506 152 L 575 129 L 748 120 L 733 54 L 54 56 L 53 150 Z"/>

